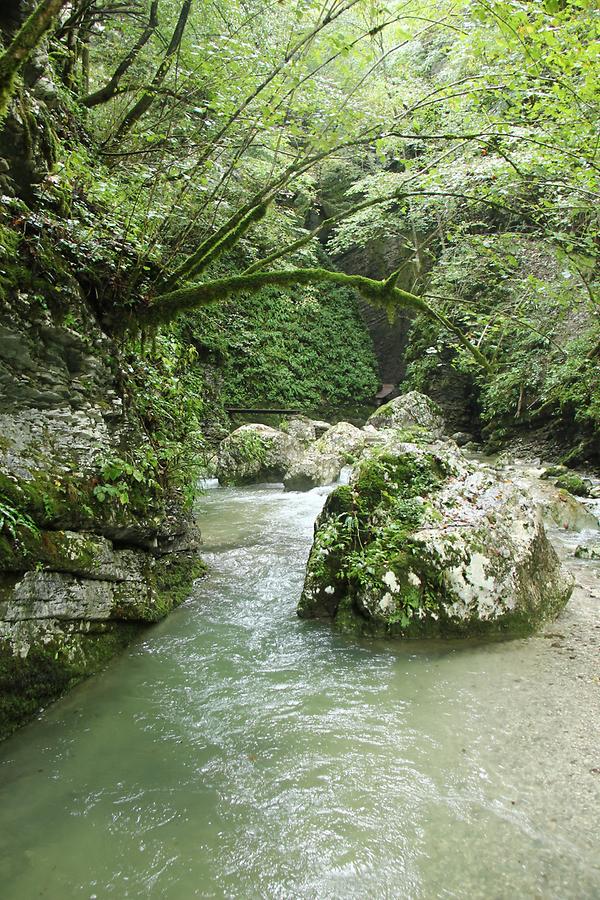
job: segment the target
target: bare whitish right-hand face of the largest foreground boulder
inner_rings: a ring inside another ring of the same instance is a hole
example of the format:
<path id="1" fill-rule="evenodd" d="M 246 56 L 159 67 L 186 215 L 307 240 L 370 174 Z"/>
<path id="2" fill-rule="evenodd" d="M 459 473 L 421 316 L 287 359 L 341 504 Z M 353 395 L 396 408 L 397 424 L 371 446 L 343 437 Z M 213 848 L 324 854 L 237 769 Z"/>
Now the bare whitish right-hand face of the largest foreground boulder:
<path id="1" fill-rule="evenodd" d="M 441 523 L 413 539 L 436 573 L 445 595 L 439 612 L 449 622 L 501 624 L 514 613 L 526 625 L 571 593 L 539 509 L 513 484 L 480 469 L 451 482 L 433 508 Z"/>

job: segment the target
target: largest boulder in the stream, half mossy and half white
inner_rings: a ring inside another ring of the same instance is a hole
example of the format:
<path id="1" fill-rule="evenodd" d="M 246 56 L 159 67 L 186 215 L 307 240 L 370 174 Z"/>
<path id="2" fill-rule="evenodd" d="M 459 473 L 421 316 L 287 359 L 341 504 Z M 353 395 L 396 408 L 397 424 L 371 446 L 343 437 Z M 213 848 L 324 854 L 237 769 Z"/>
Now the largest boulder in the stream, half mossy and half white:
<path id="1" fill-rule="evenodd" d="M 329 496 L 298 614 L 402 638 L 521 635 L 571 590 L 517 487 L 454 444 L 388 442 Z"/>

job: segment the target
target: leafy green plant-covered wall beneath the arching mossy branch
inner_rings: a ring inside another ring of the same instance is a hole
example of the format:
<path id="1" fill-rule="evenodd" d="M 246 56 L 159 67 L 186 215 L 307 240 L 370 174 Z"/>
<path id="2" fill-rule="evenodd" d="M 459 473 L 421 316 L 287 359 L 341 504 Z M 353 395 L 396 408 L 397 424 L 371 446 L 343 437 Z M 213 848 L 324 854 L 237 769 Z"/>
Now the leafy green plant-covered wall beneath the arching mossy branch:
<path id="1" fill-rule="evenodd" d="M 265 288 L 190 322 L 230 406 L 331 411 L 370 400 L 373 350 L 351 291 L 331 285 Z"/>

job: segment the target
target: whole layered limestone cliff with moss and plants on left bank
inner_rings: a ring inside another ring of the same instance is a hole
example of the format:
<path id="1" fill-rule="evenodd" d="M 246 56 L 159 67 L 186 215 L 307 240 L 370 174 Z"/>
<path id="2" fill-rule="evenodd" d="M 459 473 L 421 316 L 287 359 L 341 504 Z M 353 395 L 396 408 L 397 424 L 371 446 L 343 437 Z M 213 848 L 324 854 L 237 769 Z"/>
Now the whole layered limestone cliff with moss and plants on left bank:
<path id="1" fill-rule="evenodd" d="M 4 251 L 0 737 L 166 615 L 202 568 L 181 496 L 139 462 L 153 437 L 118 344 L 64 268 L 25 271 L 23 242 Z"/>

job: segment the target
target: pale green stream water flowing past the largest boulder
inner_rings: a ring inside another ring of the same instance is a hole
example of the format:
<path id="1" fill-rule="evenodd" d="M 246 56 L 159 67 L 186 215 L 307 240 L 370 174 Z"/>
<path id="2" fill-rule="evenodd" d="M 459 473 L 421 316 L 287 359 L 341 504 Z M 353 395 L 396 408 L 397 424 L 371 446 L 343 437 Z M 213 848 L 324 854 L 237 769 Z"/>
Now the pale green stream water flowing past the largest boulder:
<path id="1" fill-rule="evenodd" d="M 201 500 L 213 566 L 0 747 L 0 897 L 600 897 L 600 589 L 507 643 L 295 616 L 325 491 Z"/>

